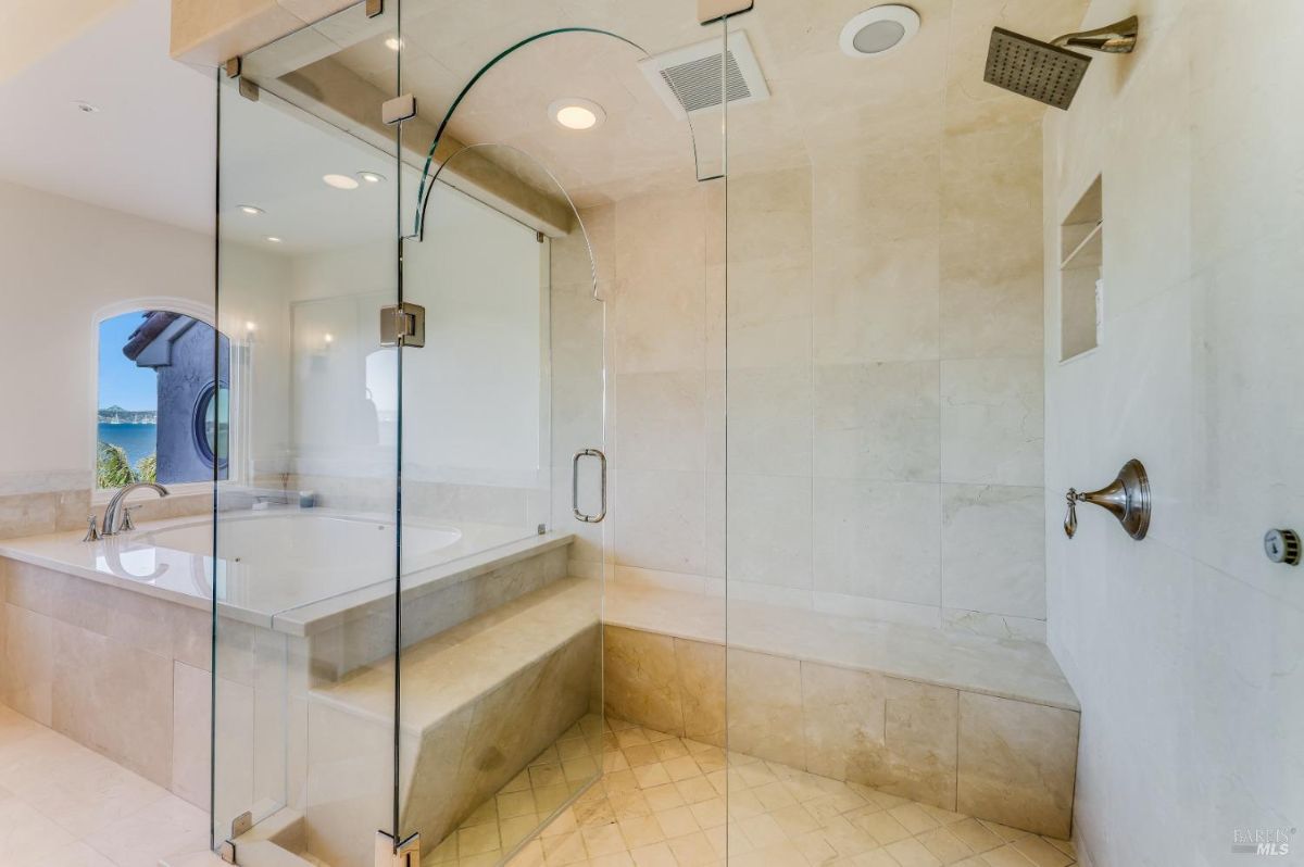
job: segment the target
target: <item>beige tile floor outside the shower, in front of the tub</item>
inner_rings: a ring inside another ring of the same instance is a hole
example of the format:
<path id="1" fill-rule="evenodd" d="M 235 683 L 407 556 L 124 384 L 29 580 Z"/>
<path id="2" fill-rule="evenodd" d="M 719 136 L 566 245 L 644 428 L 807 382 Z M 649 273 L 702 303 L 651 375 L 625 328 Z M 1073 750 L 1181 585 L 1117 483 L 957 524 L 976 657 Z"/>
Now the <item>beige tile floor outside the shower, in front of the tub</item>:
<path id="1" fill-rule="evenodd" d="M 207 812 L 0 705 L 0 867 L 156 867 L 207 847 Z"/>

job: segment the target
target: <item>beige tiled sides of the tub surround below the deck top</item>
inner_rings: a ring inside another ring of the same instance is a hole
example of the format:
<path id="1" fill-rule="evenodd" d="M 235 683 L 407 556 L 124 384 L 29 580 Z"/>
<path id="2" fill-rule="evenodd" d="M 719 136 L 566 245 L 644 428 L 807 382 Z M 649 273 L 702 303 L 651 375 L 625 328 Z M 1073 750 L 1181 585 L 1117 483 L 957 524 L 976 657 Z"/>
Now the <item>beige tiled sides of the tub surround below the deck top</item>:
<path id="1" fill-rule="evenodd" d="M 194 581 L 203 578 L 205 558 L 145 544 L 151 533 L 193 529 L 193 519 L 172 519 L 98 544 L 82 542 L 80 532 L 5 541 L 0 696 L 18 712 L 206 806 L 211 597 Z M 404 644 L 563 578 L 569 545 L 566 536 L 533 537 L 407 576 Z M 120 558 L 110 551 L 124 549 L 128 561 L 133 551 L 149 559 L 149 570 L 136 578 L 115 574 Z M 179 584 L 140 580 L 164 565 L 175 567 L 164 575 L 181 579 Z M 231 743 L 261 746 L 233 752 L 244 761 L 223 765 L 219 812 L 259 803 L 303 804 L 308 781 L 286 787 L 287 774 L 301 765 L 273 746 L 283 743 L 286 726 L 308 725 L 308 690 L 394 649 L 389 587 L 360 588 L 305 606 L 293 618 L 248 614 L 219 605 L 219 729 Z M 597 657 L 596 647 L 591 656 Z M 300 734 L 295 743 L 306 744 L 306 727 Z"/>

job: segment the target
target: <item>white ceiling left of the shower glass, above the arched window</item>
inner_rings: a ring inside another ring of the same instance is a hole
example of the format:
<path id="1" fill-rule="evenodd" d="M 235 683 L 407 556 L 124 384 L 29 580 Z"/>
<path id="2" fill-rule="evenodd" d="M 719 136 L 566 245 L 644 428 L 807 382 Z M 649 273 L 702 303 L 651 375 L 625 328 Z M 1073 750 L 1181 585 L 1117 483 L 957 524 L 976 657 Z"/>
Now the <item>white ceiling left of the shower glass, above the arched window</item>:
<path id="1" fill-rule="evenodd" d="M 0 82 L 0 179 L 211 232 L 214 83 L 168 57 L 168 5 L 123 4 Z"/>

